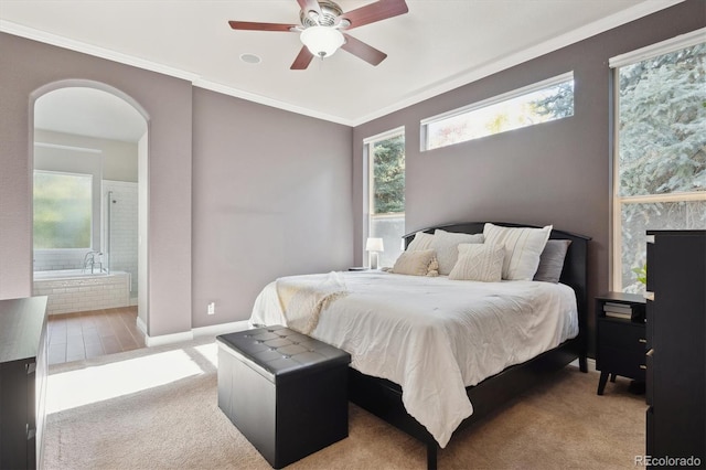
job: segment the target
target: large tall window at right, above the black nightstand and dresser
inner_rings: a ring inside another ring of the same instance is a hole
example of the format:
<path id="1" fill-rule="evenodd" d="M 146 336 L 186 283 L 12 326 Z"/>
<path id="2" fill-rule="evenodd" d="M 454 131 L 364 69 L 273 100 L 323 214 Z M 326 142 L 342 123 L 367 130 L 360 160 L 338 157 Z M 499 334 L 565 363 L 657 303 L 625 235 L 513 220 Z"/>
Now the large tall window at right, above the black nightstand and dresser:
<path id="1" fill-rule="evenodd" d="M 681 38 L 614 57 L 611 66 L 612 288 L 640 293 L 646 229 L 706 228 L 706 43 Z"/>

